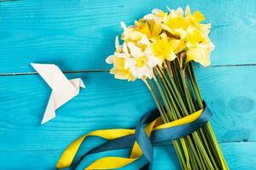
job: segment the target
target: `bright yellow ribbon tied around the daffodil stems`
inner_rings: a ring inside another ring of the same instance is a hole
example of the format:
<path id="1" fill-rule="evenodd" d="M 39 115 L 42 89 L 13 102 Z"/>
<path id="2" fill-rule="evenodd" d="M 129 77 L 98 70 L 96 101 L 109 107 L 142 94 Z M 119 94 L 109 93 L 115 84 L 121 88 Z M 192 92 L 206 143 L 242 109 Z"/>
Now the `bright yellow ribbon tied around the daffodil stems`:
<path id="1" fill-rule="evenodd" d="M 201 116 L 203 110 L 196 111 L 195 113 L 190 114 L 189 116 L 184 116 L 181 119 L 178 119 L 173 122 L 168 122 L 163 124 L 161 117 L 158 117 L 153 122 L 150 122 L 146 127 L 144 127 L 145 132 L 148 134 L 148 137 L 154 130 L 159 130 L 167 127 L 176 127 L 180 126 L 189 122 L 194 122 Z M 96 130 L 91 133 L 87 133 L 80 137 L 79 139 L 75 140 L 72 144 L 70 144 L 66 150 L 64 150 L 63 154 L 61 155 L 60 160 L 56 164 L 58 169 L 70 167 L 73 162 L 73 158 L 76 155 L 77 151 L 79 150 L 80 144 L 84 141 L 84 139 L 88 136 L 96 136 L 101 137 L 103 139 L 117 139 L 120 137 L 124 137 L 127 135 L 131 135 L 135 133 L 135 129 L 107 129 L 107 130 Z M 125 157 L 114 157 L 114 156 L 107 156 L 102 157 L 94 162 L 92 162 L 88 167 L 84 169 L 116 169 L 120 167 L 125 167 L 126 165 L 130 164 L 133 161 L 136 161 L 140 156 L 143 156 L 143 151 L 140 149 L 137 142 L 133 145 L 131 150 L 130 158 Z"/>

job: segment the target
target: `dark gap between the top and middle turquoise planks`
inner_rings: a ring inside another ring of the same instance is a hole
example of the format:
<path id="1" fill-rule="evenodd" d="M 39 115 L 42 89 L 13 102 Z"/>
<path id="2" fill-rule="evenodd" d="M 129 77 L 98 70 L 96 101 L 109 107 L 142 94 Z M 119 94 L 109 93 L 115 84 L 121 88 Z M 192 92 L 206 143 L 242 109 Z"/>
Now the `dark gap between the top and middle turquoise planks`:
<path id="1" fill-rule="evenodd" d="M 0 0 L 1 2 L 1 0 Z M 210 65 L 206 68 L 213 67 L 232 67 L 232 66 L 256 66 L 256 64 L 244 64 L 244 65 Z M 203 68 L 203 66 L 195 66 L 195 68 Z M 106 72 L 105 70 L 80 70 L 80 71 L 63 71 L 63 73 L 83 73 L 83 72 Z M 0 77 L 12 77 L 12 76 L 24 76 L 24 75 L 38 75 L 37 72 L 23 72 L 23 73 L 0 73 Z"/>

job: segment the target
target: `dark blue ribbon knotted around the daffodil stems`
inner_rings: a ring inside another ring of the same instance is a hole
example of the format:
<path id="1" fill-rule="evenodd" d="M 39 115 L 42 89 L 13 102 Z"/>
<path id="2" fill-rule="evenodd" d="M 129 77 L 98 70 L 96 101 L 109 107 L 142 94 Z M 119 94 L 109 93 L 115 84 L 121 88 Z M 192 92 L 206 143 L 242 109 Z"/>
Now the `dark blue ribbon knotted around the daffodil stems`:
<path id="1" fill-rule="evenodd" d="M 79 154 L 77 154 L 74 157 L 73 167 L 69 167 L 68 169 L 79 170 L 80 168 L 83 168 L 85 165 L 85 157 L 89 156 L 90 154 L 95 154 L 107 150 L 131 148 L 135 141 L 137 141 L 141 150 L 143 150 L 143 156 L 137 160 L 139 162 L 138 164 L 140 165 L 139 167 L 145 167 L 145 165 L 147 165 L 148 163 L 152 164 L 154 156 L 153 145 L 170 142 L 173 139 L 179 139 L 183 136 L 195 132 L 197 129 L 203 127 L 207 122 L 209 122 L 210 118 L 212 117 L 212 111 L 207 107 L 205 103 L 204 105 L 205 110 L 195 122 L 190 122 L 177 127 L 168 127 L 164 129 L 155 130 L 150 135 L 150 138 L 148 138 L 148 135 L 144 131 L 143 127 L 147 125 L 149 122 L 154 121 L 154 119 L 156 119 L 158 116 L 160 116 L 158 111 L 151 111 L 141 117 L 140 122 L 138 123 L 136 128 L 136 133 L 133 135 L 121 137 L 119 139 L 109 140 L 89 151 L 84 151 L 82 149 L 84 148 L 83 143 L 80 146 L 82 150 L 79 150 L 79 152 L 84 151 L 84 155 L 82 157 L 79 157 Z"/>

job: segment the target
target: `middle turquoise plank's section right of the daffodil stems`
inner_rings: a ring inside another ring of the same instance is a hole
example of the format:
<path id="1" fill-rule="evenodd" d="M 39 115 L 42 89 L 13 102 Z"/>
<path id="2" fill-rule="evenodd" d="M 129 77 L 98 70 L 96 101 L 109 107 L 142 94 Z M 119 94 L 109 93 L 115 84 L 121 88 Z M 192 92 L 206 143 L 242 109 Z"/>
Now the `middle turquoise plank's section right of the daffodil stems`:
<path id="1" fill-rule="evenodd" d="M 212 109 L 212 124 L 223 142 L 255 141 L 255 66 L 197 69 L 201 94 Z"/>

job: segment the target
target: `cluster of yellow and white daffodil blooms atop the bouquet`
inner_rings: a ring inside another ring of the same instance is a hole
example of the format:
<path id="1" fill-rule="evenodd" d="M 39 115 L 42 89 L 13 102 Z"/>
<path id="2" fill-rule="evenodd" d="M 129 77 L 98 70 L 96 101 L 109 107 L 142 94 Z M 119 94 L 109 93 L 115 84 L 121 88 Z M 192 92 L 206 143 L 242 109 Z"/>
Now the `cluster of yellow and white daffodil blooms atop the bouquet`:
<path id="1" fill-rule="evenodd" d="M 169 8 L 168 8 L 169 9 Z M 115 40 L 115 53 L 106 62 L 112 64 L 110 70 L 116 78 L 134 81 L 137 78 L 154 76 L 153 69 L 165 60 L 172 61 L 177 54 L 186 54 L 186 63 L 193 60 L 203 66 L 210 65 L 210 54 L 214 48 L 208 37 L 211 24 L 200 11 L 191 14 L 189 6 L 185 13 L 182 8 L 169 9 L 169 13 L 153 9 L 134 26 L 125 26 L 119 44 Z"/>

